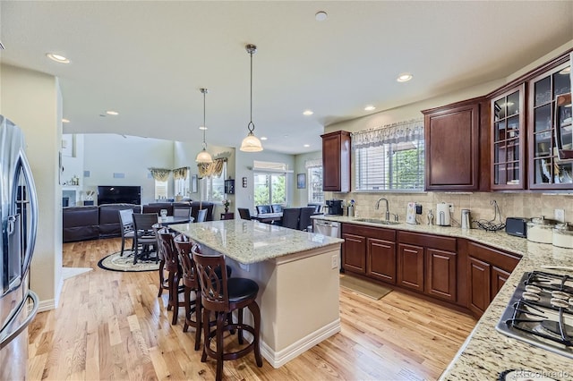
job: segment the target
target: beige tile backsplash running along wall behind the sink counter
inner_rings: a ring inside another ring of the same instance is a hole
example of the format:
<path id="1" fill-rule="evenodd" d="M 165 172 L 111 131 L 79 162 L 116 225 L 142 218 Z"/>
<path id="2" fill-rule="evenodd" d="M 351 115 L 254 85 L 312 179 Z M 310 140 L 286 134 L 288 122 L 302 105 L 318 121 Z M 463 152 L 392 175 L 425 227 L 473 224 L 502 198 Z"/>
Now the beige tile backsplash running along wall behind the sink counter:
<path id="1" fill-rule="evenodd" d="M 376 201 L 381 197 L 388 199 L 390 213 L 398 214 L 399 220 L 406 221 L 406 206 L 408 202 L 422 205 L 422 215 L 417 216 L 420 224 L 427 223 L 428 211 L 436 214 L 436 204 L 440 202 L 454 205 L 451 215 L 452 225 L 458 226 L 462 209 L 470 209 L 471 219 L 490 221 L 494 217 L 492 205 L 495 200 L 500 207 L 501 222 L 506 217 L 535 217 L 545 216 L 554 218 L 555 209 L 565 211 L 565 221 L 573 224 L 573 193 L 458 193 L 458 192 L 423 192 L 423 193 L 325 193 L 327 199 L 344 199 L 346 205 L 350 199 L 355 200 L 355 216 L 384 217 L 386 210 L 382 202 L 376 210 Z M 475 226 L 475 224 L 474 224 Z"/>

